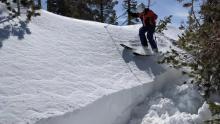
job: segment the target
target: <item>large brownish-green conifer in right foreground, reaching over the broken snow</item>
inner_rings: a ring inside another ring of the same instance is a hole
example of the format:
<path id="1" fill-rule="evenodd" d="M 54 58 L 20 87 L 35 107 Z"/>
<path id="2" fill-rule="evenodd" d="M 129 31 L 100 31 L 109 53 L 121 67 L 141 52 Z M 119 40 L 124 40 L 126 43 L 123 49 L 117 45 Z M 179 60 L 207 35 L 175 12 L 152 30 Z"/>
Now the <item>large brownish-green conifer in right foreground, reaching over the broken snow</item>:
<path id="1" fill-rule="evenodd" d="M 190 67 L 191 71 L 184 73 L 194 78 L 208 99 L 213 92 L 220 93 L 220 1 L 178 1 L 190 9 L 188 25 L 177 42 L 185 51 L 172 50 L 162 62 Z M 199 12 L 194 10 L 195 2 L 203 3 Z"/>

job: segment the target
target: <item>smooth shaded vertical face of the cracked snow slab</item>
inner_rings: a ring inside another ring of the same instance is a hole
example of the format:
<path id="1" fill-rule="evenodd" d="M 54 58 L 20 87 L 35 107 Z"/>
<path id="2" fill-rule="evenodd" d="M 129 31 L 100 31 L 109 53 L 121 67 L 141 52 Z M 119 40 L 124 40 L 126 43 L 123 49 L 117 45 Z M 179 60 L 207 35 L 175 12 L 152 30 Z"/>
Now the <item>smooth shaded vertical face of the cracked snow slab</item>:
<path id="1" fill-rule="evenodd" d="M 160 90 L 164 84 L 182 79 L 180 72 L 170 69 L 153 82 L 103 96 L 80 110 L 41 119 L 36 124 L 125 124 L 130 118 L 132 109 L 146 96 Z"/>

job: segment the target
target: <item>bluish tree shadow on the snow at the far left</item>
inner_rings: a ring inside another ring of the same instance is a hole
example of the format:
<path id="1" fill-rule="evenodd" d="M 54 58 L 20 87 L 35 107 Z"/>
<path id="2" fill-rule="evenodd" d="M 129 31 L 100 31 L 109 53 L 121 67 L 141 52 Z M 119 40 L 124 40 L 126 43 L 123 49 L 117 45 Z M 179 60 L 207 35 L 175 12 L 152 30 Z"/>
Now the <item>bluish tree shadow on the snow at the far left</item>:
<path id="1" fill-rule="evenodd" d="M 31 34 L 27 22 L 20 20 L 11 24 L 10 19 L 0 20 L 0 48 L 3 47 L 3 42 L 10 38 L 10 36 L 17 37 L 18 40 L 24 39 L 26 34 Z M 13 21 L 13 20 L 12 20 Z"/>

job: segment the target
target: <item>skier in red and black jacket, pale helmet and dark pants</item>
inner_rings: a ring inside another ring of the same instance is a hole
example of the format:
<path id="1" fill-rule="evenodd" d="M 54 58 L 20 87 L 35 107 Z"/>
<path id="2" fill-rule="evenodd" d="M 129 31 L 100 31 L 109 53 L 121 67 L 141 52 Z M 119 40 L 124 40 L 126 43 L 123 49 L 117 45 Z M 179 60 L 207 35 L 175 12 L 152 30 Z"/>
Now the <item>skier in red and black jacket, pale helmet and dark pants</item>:
<path id="1" fill-rule="evenodd" d="M 158 53 L 157 44 L 153 38 L 156 28 L 157 15 L 149 8 L 146 8 L 143 3 L 137 5 L 137 13 L 132 13 L 129 10 L 127 10 L 127 12 L 130 16 L 135 18 L 139 17 L 142 21 L 143 26 L 139 29 L 139 37 L 145 53 L 149 54 L 147 39 L 149 40 L 152 50 L 155 53 Z M 145 36 L 146 32 L 147 39 Z"/>

